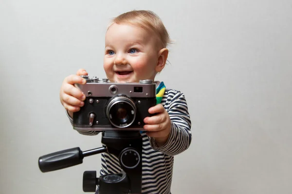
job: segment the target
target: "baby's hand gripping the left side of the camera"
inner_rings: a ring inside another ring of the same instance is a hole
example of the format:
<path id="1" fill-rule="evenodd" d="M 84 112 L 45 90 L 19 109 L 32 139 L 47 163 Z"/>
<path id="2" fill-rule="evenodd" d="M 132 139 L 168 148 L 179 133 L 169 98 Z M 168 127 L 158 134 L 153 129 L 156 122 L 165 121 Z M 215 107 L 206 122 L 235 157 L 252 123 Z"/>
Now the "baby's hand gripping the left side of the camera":
<path id="1" fill-rule="evenodd" d="M 64 79 L 60 89 L 60 101 L 71 117 L 84 105 L 85 95 L 74 86 L 75 83 L 86 83 L 86 80 L 80 77 L 81 75 L 88 75 L 88 73 L 84 69 L 79 69 L 76 75 L 70 75 Z"/>

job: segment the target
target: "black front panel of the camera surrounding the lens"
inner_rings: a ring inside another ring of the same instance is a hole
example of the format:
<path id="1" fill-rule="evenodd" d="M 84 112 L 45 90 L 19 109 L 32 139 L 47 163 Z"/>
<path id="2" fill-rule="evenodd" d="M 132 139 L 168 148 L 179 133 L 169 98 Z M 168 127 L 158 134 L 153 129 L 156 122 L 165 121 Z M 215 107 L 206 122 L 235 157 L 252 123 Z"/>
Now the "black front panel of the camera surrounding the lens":
<path id="1" fill-rule="evenodd" d="M 111 112 L 107 111 L 109 102 L 112 98 L 109 97 L 86 97 L 84 106 L 80 111 L 73 113 L 73 129 L 76 130 L 144 130 L 143 122 L 147 116 L 152 116 L 148 113 L 148 109 L 156 105 L 156 97 L 150 98 L 130 98 L 135 106 L 135 118 L 132 123 L 125 127 L 127 119 L 131 122 L 132 112 L 128 108 L 127 103 L 116 104 L 118 107 L 112 107 Z M 109 114 L 110 113 L 110 114 Z M 125 120 L 126 119 L 126 120 Z M 111 120 L 111 121 L 110 121 Z M 114 121 L 114 124 L 112 122 Z"/>

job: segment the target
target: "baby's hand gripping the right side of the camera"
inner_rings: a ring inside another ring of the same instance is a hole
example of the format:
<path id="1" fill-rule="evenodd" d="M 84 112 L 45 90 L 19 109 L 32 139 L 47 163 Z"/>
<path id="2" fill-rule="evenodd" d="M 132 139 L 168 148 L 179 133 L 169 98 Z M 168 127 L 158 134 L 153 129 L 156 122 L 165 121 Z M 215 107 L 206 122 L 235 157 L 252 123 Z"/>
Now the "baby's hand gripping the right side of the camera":
<path id="1" fill-rule="evenodd" d="M 154 137 L 158 146 L 163 146 L 169 137 L 171 122 L 169 114 L 164 109 L 162 104 L 157 104 L 151 107 L 148 112 L 150 114 L 157 113 L 154 116 L 144 119 L 144 129 L 149 137 Z"/>

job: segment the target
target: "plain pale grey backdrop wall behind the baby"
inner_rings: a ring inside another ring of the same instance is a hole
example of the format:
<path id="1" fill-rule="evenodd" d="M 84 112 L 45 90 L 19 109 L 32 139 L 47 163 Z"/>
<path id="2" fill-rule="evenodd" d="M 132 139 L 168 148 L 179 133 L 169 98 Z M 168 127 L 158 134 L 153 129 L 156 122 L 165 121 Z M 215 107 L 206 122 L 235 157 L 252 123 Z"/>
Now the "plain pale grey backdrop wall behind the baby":
<path id="1" fill-rule="evenodd" d="M 59 101 L 64 78 L 105 78 L 110 18 L 158 14 L 175 42 L 157 77 L 185 94 L 189 149 L 173 194 L 291 194 L 291 0 L 0 0 L 0 193 L 82 194 L 83 164 L 41 173 L 38 157 L 101 146 L 76 132 Z"/>

